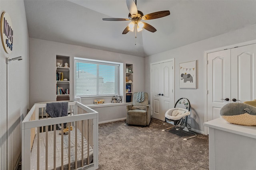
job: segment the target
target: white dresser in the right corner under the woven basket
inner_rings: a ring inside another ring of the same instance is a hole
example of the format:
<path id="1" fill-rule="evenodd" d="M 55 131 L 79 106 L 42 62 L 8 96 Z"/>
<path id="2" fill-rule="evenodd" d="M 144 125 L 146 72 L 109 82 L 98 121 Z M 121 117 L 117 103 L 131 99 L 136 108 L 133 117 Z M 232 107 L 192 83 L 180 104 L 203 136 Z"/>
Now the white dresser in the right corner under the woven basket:
<path id="1" fill-rule="evenodd" d="M 209 127 L 210 170 L 256 170 L 256 126 L 228 123 L 221 117 Z"/>

